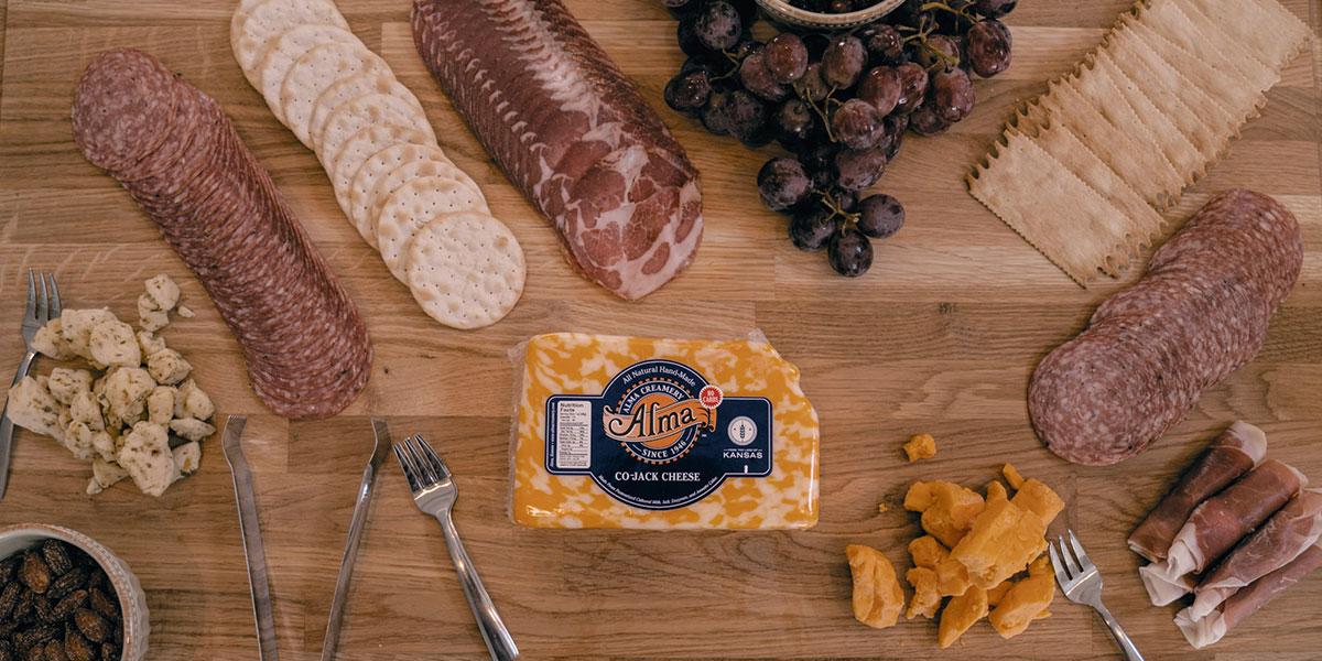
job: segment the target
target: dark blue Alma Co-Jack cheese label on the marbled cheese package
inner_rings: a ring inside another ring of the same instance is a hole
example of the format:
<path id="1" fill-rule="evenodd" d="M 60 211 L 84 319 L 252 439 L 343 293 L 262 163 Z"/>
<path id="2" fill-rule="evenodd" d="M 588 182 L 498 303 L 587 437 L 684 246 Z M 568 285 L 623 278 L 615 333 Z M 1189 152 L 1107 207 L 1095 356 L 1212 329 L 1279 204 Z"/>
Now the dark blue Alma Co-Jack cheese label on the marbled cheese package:
<path id="1" fill-rule="evenodd" d="M 546 420 L 550 473 L 588 475 L 640 509 L 682 508 L 726 477 L 771 475 L 771 401 L 728 397 L 674 361 L 631 365 L 600 395 L 551 395 Z"/>

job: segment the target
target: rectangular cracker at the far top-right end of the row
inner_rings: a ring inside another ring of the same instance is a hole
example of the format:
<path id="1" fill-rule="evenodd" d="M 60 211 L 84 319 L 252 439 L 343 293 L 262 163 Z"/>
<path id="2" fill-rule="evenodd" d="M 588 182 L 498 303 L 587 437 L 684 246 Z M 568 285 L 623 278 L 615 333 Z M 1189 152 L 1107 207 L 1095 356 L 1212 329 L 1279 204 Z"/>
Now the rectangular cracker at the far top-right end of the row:
<path id="1" fill-rule="evenodd" d="M 1181 0 L 1181 4 L 1216 21 L 1278 71 L 1313 38 L 1307 24 L 1277 0 Z"/>

